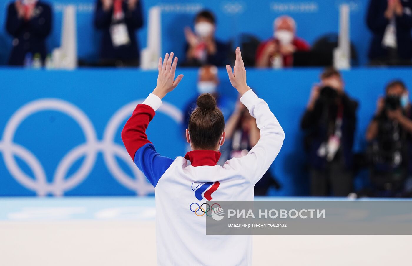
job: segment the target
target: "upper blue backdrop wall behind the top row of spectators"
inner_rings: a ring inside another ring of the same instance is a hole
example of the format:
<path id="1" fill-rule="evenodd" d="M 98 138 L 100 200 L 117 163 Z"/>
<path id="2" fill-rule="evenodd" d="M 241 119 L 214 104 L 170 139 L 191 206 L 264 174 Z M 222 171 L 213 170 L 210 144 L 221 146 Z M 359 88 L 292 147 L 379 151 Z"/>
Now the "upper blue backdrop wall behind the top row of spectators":
<path id="1" fill-rule="evenodd" d="M 361 64 L 367 61 L 366 55 L 370 32 L 365 25 L 368 0 L 140 0 L 143 2 L 145 21 L 147 10 L 154 6 L 162 7 L 162 50 L 174 51 L 183 55 L 185 26 L 191 26 L 200 9 L 208 8 L 218 19 L 216 35 L 219 39 L 238 44 L 241 33 L 252 33 L 265 40 L 273 34 L 273 20 L 281 14 L 289 14 L 297 22 L 297 35 L 311 45 L 326 33 L 338 31 L 338 7 L 346 2 L 351 6 L 351 39 L 359 53 Z M 95 0 L 47 0 L 54 8 L 54 26 L 47 44 L 49 51 L 60 45 L 61 14 L 64 5 L 77 7 L 77 38 L 79 58 L 96 61 L 99 47 L 99 33 L 93 27 Z M 5 14 L 9 1 L 0 0 L 0 64 L 7 62 L 11 38 L 5 32 Z M 146 25 L 136 33 L 140 47 L 146 46 Z"/>

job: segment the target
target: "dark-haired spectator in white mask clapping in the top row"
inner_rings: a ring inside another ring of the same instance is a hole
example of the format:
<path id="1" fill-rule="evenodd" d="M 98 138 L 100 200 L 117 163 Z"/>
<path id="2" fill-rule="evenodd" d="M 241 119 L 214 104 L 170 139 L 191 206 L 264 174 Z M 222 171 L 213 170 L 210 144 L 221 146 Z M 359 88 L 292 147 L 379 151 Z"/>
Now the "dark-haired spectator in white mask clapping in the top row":
<path id="1" fill-rule="evenodd" d="M 185 28 L 187 45 L 184 66 L 229 64 L 229 45 L 215 39 L 216 20 L 212 12 L 203 10 L 194 19 L 194 32 Z"/>

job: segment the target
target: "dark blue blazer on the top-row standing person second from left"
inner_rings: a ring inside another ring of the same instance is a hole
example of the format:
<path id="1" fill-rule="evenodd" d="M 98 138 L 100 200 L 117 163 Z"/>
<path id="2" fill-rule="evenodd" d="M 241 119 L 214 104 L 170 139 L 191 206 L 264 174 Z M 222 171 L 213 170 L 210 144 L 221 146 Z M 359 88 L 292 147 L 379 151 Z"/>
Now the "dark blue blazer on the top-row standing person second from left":
<path id="1" fill-rule="evenodd" d="M 127 1 L 123 1 L 122 8 L 124 12 L 124 23 L 127 26 L 130 43 L 120 47 L 113 47 L 112 38 L 110 37 L 110 25 L 112 24 L 113 8 L 105 12 L 101 0 L 96 1 L 96 13 L 94 25 L 96 29 L 103 30 L 101 40 L 100 58 L 103 60 L 139 60 L 139 49 L 136 40 L 135 31 L 143 26 L 143 15 L 141 0 L 138 0 L 136 8 L 129 10 Z"/>

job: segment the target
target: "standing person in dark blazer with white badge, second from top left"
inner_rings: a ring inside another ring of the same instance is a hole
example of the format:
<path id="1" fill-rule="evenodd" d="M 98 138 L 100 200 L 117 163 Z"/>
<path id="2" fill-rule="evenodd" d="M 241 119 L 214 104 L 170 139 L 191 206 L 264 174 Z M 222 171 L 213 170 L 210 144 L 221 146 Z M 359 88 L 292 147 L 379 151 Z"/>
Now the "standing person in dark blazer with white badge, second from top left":
<path id="1" fill-rule="evenodd" d="M 140 0 L 97 0 L 96 29 L 103 30 L 100 59 L 106 66 L 138 66 L 135 31 L 143 26 Z"/>

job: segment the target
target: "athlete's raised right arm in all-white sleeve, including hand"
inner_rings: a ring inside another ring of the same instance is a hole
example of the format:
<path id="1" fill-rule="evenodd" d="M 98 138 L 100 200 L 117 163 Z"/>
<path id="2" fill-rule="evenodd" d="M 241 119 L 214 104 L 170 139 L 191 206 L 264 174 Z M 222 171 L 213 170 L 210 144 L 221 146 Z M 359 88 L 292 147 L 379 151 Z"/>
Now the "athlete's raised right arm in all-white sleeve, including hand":
<path id="1" fill-rule="evenodd" d="M 256 118 L 256 124 L 260 130 L 260 139 L 246 156 L 230 159 L 226 162 L 225 167 L 241 169 L 242 173 L 255 185 L 279 154 L 285 133 L 267 103 L 259 99 L 246 84 L 246 70 L 239 47 L 236 48 L 234 71 L 232 72 L 229 65 L 226 66 L 226 69 L 230 83 L 242 95 L 240 101 L 248 108 L 249 113 Z"/>

